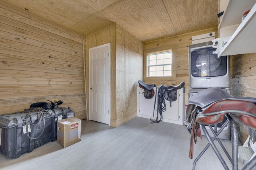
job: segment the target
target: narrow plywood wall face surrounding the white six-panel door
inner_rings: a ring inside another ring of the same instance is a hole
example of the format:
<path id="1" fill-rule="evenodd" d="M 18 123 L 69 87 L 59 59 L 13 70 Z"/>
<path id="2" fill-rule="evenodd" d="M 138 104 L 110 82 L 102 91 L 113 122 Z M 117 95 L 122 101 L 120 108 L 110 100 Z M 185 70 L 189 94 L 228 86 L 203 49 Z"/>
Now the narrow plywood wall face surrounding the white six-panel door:
<path id="1" fill-rule="evenodd" d="M 89 61 L 89 49 L 110 43 L 110 100 L 111 121 L 116 118 L 116 24 L 111 24 L 96 32 L 86 35 L 86 61 Z M 87 99 L 89 97 L 89 63 L 86 62 L 86 87 Z M 111 123 L 110 121 L 110 123 Z"/>

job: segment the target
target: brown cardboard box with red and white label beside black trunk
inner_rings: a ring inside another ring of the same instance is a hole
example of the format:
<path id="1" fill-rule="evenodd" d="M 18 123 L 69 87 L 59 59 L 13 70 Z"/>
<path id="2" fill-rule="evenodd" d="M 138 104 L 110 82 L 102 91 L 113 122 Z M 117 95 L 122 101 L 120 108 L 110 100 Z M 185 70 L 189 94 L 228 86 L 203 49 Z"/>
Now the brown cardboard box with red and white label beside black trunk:
<path id="1" fill-rule="evenodd" d="M 58 143 L 66 148 L 76 142 L 81 141 L 81 120 L 75 117 L 63 119 L 57 123 Z"/>

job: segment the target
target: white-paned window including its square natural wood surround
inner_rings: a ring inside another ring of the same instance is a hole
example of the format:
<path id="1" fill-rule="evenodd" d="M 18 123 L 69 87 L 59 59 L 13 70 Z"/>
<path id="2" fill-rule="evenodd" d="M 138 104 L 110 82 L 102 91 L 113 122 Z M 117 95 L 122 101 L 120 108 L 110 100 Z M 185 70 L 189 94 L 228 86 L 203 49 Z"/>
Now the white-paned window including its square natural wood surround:
<path id="1" fill-rule="evenodd" d="M 161 45 L 144 51 L 143 80 L 166 82 L 176 80 L 175 46 Z"/>

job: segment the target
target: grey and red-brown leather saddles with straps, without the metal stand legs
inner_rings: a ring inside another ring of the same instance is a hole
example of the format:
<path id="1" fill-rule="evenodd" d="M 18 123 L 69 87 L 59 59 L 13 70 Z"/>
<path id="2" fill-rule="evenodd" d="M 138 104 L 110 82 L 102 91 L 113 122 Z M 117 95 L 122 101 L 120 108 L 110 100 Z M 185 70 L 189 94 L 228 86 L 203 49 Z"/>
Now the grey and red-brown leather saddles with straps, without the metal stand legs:
<path id="1" fill-rule="evenodd" d="M 184 124 L 191 129 L 189 152 L 191 159 L 196 136 L 201 137 L 200 124 L 215 125 L 222 122 L 225 117 L 229 117 L 237 123 L 256 129 L 256 98 L 235 98 L 219 87 L 212 87 L 190 97 L 188 104 Z"/>

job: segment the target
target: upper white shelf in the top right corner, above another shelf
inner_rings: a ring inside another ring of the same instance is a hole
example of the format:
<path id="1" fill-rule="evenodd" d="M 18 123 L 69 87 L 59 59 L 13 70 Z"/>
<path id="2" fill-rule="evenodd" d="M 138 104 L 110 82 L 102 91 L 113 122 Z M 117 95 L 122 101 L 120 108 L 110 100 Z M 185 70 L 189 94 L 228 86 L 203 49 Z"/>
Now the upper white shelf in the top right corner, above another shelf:
<path id="1" fill-rule="evenodd" d="M 256 0 L 230 0 L 218 28 L 240 24 L 244 12 L 250 10 Z"/>

